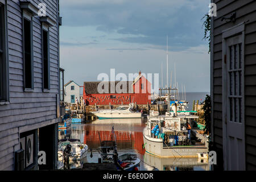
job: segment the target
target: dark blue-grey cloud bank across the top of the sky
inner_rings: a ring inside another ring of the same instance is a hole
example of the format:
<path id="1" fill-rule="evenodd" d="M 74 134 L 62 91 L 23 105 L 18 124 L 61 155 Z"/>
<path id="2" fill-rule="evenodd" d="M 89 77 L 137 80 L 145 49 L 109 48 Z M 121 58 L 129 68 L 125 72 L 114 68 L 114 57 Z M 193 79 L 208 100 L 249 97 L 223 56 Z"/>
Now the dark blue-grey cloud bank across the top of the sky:
<path id="1" fill-rule="evenodd" d="M 156 46 L 194 47 L 204 43 L 201 18 L 205 0 L 61 0 L 65 26 L 94 26 L 97 31 L 123 35 L 115 40 Z M 130 37 L 127 35 L 136 35 Z"/>

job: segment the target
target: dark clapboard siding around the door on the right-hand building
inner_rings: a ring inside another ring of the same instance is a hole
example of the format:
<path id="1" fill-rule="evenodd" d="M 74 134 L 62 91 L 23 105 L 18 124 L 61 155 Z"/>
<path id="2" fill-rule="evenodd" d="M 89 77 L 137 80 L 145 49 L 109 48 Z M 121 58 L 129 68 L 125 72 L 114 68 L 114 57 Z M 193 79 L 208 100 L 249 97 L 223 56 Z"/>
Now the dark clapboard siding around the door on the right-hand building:
<path id="1" fill-rule="evenodd" d="M 245 148 L 246 169 L 256 168 L 256 1 L 215 1 L 217 17 L 213 22 L 213 139 L 222 149 L 222 31 L 245 23 Z M 221 21 L 236 12 L 236 22 Z"/>

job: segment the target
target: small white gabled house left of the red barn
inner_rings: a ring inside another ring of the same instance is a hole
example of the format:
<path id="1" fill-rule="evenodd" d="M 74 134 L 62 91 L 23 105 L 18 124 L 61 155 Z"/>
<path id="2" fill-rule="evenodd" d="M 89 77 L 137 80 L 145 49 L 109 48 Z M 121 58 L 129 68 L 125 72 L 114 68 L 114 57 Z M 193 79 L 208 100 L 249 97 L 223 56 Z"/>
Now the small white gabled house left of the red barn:
<path id="1" fill-rule="evenodd" d="M 64 85 L 65 102 L 69 104 L 75 104 L 76 98 L 80 101 L 80 86 L 75 81 L 69 81 Z"/>

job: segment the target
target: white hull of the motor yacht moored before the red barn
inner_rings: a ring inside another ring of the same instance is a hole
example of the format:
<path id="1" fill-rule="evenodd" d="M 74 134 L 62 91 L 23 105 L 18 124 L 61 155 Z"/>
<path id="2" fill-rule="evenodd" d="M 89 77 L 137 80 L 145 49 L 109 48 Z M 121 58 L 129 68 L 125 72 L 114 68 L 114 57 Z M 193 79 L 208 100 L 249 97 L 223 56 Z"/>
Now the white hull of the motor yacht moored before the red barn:
<path id="1" fill-rule="evenodd" d="M 93 113 L 99 119 L 141 118 L 141 113 Z"/>

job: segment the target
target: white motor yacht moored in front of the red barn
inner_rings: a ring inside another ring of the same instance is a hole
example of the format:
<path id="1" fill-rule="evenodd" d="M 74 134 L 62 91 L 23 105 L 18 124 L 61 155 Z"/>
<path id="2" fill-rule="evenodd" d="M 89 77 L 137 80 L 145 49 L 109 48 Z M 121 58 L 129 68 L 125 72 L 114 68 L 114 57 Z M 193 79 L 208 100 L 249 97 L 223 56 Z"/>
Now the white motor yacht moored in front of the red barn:
<path id="1" fill-rule="evenodd" d="M 141 118 L 141 113 L 132 111 L 133 106 L 133 104 L 129 106 L 118 106 L 117 109 L 104 109 L 92 113 L 99 119 Z"/>

